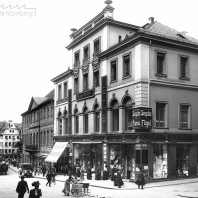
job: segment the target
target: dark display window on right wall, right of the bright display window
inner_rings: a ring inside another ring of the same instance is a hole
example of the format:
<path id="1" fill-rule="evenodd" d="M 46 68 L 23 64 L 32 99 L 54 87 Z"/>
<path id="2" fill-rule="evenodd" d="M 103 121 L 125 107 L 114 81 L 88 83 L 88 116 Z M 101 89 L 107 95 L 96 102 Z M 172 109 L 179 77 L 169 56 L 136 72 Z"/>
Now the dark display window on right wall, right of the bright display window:
<path id="1" fill-rule="evenodd" d="M 189 164 L 190 164 L 190 148 L 186 144 L 178 144 L 176 150 L 176 173 L 177 177 L 189 176 Z"/>

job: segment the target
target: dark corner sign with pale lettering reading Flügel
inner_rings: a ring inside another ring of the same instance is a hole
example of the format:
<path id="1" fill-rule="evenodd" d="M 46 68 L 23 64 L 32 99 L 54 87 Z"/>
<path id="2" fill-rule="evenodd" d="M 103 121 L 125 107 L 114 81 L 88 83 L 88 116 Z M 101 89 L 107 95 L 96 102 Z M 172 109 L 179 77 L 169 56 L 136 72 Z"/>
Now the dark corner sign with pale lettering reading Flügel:
<path id="1" fill-rule="evenodd" d="M 147 107 L 133 108 L 132 126 L 134 129 L 152 128 L 152 109 Z"/>

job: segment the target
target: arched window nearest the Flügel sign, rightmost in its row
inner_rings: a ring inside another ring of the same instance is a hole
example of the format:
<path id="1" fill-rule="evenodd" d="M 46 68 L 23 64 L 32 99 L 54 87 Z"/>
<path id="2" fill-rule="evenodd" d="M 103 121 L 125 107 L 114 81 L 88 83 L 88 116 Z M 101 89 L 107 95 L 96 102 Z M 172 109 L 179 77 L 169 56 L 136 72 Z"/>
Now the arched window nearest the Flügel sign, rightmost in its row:
<path id="1" fill-rule="evenodd" d="M 124 126 L 125 130 L 132 130 L 132 100 L 130 96 L 126 96 L 123 99 L 123 106 L 124 106 Z"/>

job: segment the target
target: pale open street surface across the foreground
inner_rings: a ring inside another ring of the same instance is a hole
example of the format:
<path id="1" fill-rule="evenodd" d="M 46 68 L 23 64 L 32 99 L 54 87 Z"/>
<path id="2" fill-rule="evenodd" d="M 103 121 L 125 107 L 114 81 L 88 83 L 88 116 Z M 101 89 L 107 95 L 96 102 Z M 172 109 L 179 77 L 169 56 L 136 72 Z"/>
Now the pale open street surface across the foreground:
<path id="1" fill-rule="evenodd" d="M 8 175 L 0 176 L 0 197 L 1 198 L 17 198 L 15 191 L 17 183 L 19 181 L 18 174 L 9 169 Z M 28 186 L 32 189 L 31 183 L 38 181 L 41 183 L 43 198 L 62 198 L 65 197 L 61 192 L 64 186 L 64 182 L 57 181 L 56 184 L 52 184 L 52 187 L 46 187 L 46 180 L 41 178 L 26 178 Z M 108 197 L 108 198 L 172 198 L 172 197 L 198 197 L 197 183 L 189 183 L 190 180 L 186 180 L 186 184 L 180 185 L 167 185 L 162 187 L 148 187 L 144 190 L 141 189 L 104 189 L 90 187 L 92 197 Z M 25 198 L 28 198 L 26 193 Z"/>

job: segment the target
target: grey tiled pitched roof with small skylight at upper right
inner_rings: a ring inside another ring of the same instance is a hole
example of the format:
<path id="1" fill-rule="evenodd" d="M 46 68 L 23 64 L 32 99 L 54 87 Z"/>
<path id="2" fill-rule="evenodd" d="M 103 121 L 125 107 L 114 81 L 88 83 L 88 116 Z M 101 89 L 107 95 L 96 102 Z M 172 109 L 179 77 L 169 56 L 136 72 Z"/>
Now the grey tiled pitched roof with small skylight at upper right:
<path id="1" fill-rule="evenodd" d="M 157 34 L 159 36 L 165 36 L 172 39 L 177 40 L 183 40 L 186 42 L 191 42 L 194 44 L 198 44 L 198 40 L 195 38 L 192 38 L 190 36 L 187 36 L 183 32 L 179 32 L 173 28 L 170 28 L 166 25 L 163 25 L 157 21 L 155 21 L 152 24 L 146 24 L 143 26 L 143 28 L 140 29 L 144 33 L 151 33 L 151 34 Z"/>

